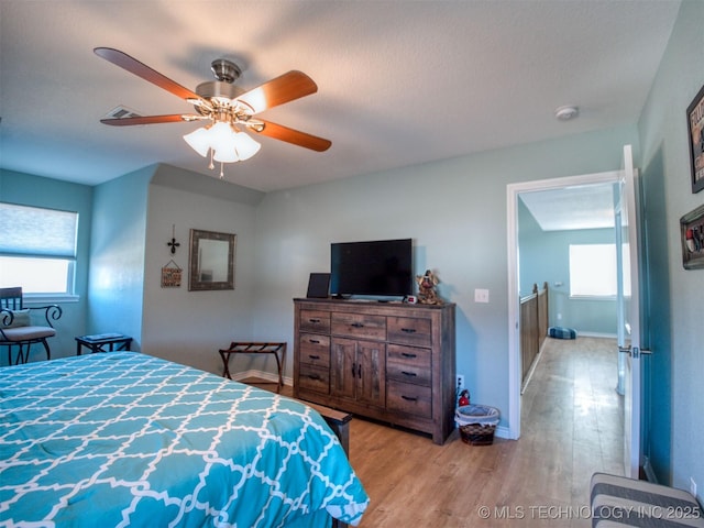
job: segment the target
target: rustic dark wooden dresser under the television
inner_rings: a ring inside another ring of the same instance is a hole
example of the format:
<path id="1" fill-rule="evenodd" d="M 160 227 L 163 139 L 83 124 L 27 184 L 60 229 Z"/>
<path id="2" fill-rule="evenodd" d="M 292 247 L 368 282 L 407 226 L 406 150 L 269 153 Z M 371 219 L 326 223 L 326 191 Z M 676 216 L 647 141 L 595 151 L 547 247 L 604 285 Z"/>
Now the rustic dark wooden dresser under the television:
<path id="1" fill-rule="evenodd" d="M 454 428 L 454 304 L 294 299 L 294 396 L 432 435 Z"/>

